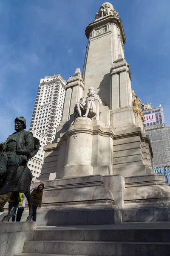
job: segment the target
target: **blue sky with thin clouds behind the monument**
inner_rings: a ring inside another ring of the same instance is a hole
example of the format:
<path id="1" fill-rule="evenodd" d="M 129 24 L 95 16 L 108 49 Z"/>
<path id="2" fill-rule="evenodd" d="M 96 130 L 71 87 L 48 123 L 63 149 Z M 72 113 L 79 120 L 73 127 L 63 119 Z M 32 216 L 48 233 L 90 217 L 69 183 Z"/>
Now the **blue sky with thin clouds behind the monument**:
<path id="1" fill-rule="evenodd" d="M 14 118 L 29 128 L 40 78 L 67 80 L 82 70 L 87 38 L 101 0 L 0 0 L 0 141 Z M 126 35 L 132 88 L 142 102 L 163 105 L 170 125 L 170 0 L 111 0 Z"/>

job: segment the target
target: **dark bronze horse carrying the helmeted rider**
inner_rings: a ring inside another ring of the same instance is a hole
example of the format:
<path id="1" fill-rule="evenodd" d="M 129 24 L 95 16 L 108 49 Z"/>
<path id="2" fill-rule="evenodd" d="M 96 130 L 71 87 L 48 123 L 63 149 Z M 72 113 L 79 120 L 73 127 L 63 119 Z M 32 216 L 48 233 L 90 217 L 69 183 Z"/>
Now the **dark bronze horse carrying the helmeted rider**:
<path id="1" fill-rule="evenodd" d="M 34 138 L 34 150 L 31 152 L 29 159 L 31 159 L 32 157 L 34 157 L 35 154 L 37 154 L 39 148 L 40 148 L 40 142 L 37 138 Z M 0 160 L 2 158 L 6 158 L 6 155 L 0 151 Z M 32 173 L 31 173 L 31 170 L 28 168 L 27 163 L 28 163 L 28 161 L 23 161 L 23 163 L 18 167 L 16 177 L 12 181 L 11 190 L 8 192 L 13 193 L 14 204 L 13 204 L 11 210 L 8 212 L 8 214 L 3 217 L 3 219 L 2 219 L 3 222 L 8 221 L 14 214 L 14 211 L 20 202 L 19 192 L 23 192 L 26 195 L 26 198 L 28 201 L 28 206 L 29 206 L 29 215 L 28 215 L 26 221 L 31 221 L 32 214 L 33 214 L 32 197 L 30 194 Z M 6 170 L 4 169 L 4 170 L 2 170 L 2 172 L 0 174 L 0 195 L 4 194 L 1 192 L 1 187 L 5 183 L 5 180 L 6 180 Z"/>

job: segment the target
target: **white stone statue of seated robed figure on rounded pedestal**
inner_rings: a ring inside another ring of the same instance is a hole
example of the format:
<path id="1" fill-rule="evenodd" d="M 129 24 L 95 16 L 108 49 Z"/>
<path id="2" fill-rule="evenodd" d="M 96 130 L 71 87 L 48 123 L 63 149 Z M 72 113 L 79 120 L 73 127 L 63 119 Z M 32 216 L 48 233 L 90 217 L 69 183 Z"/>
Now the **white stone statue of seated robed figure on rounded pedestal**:
<path id="1" fill-rule="evenodd" d="M 98 99 L 99 103 L 102 104 L 99 95 L 97 95 L 94 91 L 93 87 L 88 88 L 88 97 L 81 98 L 80 102 L 76 104 L 74 107 L 74 116 L 82 116 L 92 118 L 96 115 L 96 104 L 94 102 L 95 99 Z"/>

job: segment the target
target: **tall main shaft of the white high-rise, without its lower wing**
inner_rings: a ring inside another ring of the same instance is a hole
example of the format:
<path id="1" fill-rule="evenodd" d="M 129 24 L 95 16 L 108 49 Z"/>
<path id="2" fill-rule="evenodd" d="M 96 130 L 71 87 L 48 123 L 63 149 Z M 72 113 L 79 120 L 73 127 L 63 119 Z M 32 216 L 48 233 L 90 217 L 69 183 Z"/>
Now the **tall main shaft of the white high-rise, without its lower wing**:
<path id="1" fill-rule="evenodd" d="M 47 137 L 47 144 L 55 138 L 62 119 L 66 81 L 60 75 L 40 79 L 30 130 L 37 130 Z"/>

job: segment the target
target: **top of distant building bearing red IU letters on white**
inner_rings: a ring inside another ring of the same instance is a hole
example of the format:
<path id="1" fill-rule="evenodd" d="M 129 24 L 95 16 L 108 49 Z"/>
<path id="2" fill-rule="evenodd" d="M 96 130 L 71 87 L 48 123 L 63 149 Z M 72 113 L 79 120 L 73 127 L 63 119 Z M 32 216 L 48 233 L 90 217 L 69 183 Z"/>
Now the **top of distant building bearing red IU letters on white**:
<path id="1" fill-rule="evenodd" d="M 164 112 L 163 107 L 159 105 L 157 108 L 152 108 L 151 103 L 144 104 L 142 106 L 142 111 L 144 114 L 144 129 L 164 127 Z"/>

